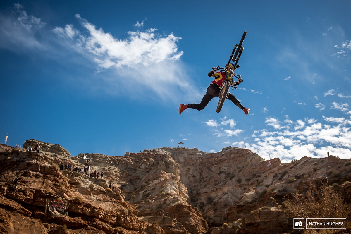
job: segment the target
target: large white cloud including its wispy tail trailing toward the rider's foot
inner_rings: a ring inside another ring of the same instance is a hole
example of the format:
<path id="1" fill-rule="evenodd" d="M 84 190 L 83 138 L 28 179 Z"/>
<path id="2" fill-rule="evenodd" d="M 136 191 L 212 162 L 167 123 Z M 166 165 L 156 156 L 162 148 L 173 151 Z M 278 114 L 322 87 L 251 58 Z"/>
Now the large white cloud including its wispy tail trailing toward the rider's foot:
<path id="1" fill-rule="evenodd" d="M 99 76 L 103 81 L 97 84 L 100 89 L 112 95 L 121 93 L 132 97 L 135 92 L 157 94 L 175 102 L 175 98 L 185 99 L 186 96 L 187 99 L 200 98 L 196 86 L 190 83 L 191 78 L 184 74 L 185 65 L 177 61 L 183 54 L 177 46 L 180 37 L 172 33 L 159 35 L 157 29 L 150 28 L 127 32 L 126 38 L 118 39 L 79 14 L 75 17 L 85 31 L 66 25 L 65 28 L 55 27 L 53 32 L 66 38 L 68 47 L 90 58 L 97 65 L 97 73 L 105 72 Z M 153 92 L 140 92 L 144 89 Z"/>

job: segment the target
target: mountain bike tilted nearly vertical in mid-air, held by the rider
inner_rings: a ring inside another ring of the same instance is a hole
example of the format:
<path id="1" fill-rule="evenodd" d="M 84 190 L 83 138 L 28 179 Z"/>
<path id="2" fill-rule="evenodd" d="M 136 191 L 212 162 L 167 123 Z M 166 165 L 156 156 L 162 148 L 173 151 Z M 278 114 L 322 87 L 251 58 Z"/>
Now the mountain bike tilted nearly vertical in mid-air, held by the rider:
<path id="1" fill-rule="evenodd" d="M 240 56 L 241 54 L 243 53 L 243 50 L 244 50 L 244 47 L 241 46 L 243 45 L 243 41 L 245 39 L 245 36 L 246 36 L 246 31 L 244 32 L 243 36 L 241 37 L 241 40 L 239 42 L 239 45 L 236 44 L 234 46 L 234 49 L 232 51 L 232 54 L 230 55 L 230 58 L 229 58 L 229 61 L 227 63 L 227 65 L 225 67 L 219 67 L 217 66 L 217 71 L 221 71 L 221 72 L 226 72 L 225 73 L 225 77 L 226 79 L 224 80 L 224 84 L 223 84 L 223 87 L 221 88 L 221 91 L 219 92 L 219 102 L 218 102 L 218 105 L 217 105 L 217 113 L 220 112 L 220 110 L 222 109 L 222 106 L 223 106 L 223 103 L 224 101 L 227 99 L 228 97 L 228 94 L 229 94 L 229 87 L 231 87 L 231 89 L 233 90 L 237 90 L 237 85 L 235 85 L 233 83 L 233 77 L 235 78 L 238 78 L 238 80 L 240 80 L 241 82 L 243 82 L 244 80 L 241 79 L 241 75 L 237 75 L 235 73 L 235 69 L 236 69 L 236 66 L 238 64 L 238 61 L 240 59 Z M 235 53 L 234 53 L 235 52 Z M 238 57 L 238 58 L 237 58 Z M 230 61 L 233 61 L 235 62 L 233 68 L 229 68 L 229 64 L 230 64 Z"/>

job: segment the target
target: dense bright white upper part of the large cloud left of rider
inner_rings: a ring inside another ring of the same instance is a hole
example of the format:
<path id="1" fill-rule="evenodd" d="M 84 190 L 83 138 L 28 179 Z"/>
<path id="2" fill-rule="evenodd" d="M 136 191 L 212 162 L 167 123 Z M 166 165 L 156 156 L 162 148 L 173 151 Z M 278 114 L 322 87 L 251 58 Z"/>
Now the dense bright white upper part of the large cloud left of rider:
<path id="1" fill-rule="evenodd" d="M 183 54 L 183 51 L 178 51 L 176 44 L 181 38 L 173 34 L 160 36 L 155 33 L 157 29 L 150 28 L 144 32 L 127 32 L 128 38 L 120 40 L 102 28 L 97 29 L 79 14 L 75 17 L 89 32 L 77 39 L 78 45 L 82 44 L 81 47 L 95 55 L 95 61 L 102 68 L 148 66 L 167 60 L 179 60 Z M 71 31 L 73 30 L 71 26 Z M 66 29 L 60 27 L 56 27 L 54 32 L 59 32 L 60 36 L 62 33 L 67 34 Z M 78 31 L 75 32 L 78 34 Z"/>

